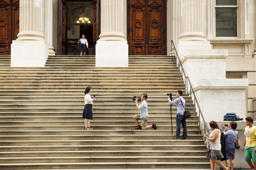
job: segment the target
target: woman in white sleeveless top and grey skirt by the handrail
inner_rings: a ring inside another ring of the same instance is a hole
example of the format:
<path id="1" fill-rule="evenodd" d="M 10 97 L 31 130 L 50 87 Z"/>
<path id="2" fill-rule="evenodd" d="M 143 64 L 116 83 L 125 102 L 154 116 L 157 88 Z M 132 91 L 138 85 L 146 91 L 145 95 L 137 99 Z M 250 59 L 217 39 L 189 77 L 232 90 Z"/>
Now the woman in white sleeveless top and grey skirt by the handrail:
<path id="1" fill-rule="evenodd" d="M 210 133 L 210 135 L 205 134 L 205 138 L 209 140 L 210 143 L 210 152 L 206 154 L 206 157 L 210 159 L 211 170 L 215 170 L 215 164 L 219 165 L 224 170 L 229 170 L 229 168 L 224 166 L 221 161 L 218 161 L 218 159 L 224 158 L 220 151 L 220 128 L 215 121 L 211 121 L 209 124 L 212 133 Z"/>

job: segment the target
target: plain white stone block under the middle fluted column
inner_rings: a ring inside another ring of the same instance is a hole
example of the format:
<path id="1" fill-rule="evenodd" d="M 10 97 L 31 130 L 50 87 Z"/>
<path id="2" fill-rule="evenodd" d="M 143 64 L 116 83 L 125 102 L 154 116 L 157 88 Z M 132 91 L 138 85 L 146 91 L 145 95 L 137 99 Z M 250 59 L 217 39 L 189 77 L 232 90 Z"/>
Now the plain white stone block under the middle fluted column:
<path id="1" fill-rule="evenodd" d="M 97 41 L 96 67 L 128 67 L 127 41 Z"/>

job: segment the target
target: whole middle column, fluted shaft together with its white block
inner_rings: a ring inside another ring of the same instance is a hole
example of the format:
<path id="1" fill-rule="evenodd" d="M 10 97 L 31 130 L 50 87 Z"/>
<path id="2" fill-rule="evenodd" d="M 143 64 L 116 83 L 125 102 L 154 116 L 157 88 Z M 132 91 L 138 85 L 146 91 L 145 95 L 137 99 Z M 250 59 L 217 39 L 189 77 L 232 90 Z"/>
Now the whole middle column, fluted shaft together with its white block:
<path id="1" fill-rule="evenodd" d="M 123 1 L 101 1 L 101 34 L 96 44 L 96 67 L 128 67 L 123 9 Z"/>

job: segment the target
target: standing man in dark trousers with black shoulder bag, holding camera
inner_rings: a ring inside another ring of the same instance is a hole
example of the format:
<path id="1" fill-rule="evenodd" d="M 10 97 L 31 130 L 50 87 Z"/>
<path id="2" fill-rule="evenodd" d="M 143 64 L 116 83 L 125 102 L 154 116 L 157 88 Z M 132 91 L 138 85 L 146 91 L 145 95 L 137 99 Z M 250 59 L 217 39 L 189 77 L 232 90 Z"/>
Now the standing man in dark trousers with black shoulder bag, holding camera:
<path id="1" fill-rule="evenodd" d="M 176 104 L 177 107 L 177 115 L 176 115 L 176 137 L 174 140 L 180 140 L 180 124 L 182 125 L 183 128 L 183 137 L 182 140 L 187 140 L 187 124 L 186 124 L 186 118 L 184 116 L 184 107 L 185 107 L 185 99 L 182 98 L 182 91 L 178 90 L 176 93 L 177 98 L 174 101 L 171 101 L 170 95 L 168 95 L 168 101 L 171 105 Z M 183 105 L 184 107 L 183 107 Z"/>

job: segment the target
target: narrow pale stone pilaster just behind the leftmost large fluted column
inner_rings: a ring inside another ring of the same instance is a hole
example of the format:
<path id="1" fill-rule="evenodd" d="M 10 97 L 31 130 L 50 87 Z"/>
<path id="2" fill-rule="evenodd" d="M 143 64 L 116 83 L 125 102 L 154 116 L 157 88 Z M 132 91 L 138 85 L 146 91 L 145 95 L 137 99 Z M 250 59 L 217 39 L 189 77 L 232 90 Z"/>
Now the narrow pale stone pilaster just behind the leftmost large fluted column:
<path id="1" fill-rule="evenodd" d="M 54 56 L 53 42 L 53 0 L 44 0 L 44 27 L 43 33 L 45 35 L 46 44 L 48 45 L 49 55 Z"/>

